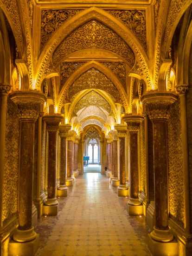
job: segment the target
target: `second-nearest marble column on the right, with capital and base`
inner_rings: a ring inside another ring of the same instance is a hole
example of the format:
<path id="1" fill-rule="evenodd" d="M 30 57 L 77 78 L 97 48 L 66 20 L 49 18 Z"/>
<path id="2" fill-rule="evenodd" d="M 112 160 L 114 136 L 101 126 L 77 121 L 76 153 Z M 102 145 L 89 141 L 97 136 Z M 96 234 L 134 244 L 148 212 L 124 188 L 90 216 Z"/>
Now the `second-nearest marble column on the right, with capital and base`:
<path id="1" fill-rule="evenodd" d="M 130 196 L 128 200 L 129 215 L 142 215 L 143 206 L 139 200 L 139 154 L 140 154 L 140 115 L 126 115 L 123 120 L 128 125 L 128 169 L 130 176 Z"/>

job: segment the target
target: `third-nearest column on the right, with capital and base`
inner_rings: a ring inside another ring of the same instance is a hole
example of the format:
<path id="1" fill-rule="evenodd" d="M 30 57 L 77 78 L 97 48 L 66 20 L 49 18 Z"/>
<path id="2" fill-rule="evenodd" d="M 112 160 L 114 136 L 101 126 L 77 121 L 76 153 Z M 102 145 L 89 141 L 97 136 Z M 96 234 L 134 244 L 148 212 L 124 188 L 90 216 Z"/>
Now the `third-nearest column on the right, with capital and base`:
<path id="1" fill-rule="evenodd" d="M 126 177 L 126 138 L 127 138 L 127 126 L 116 125 L 115 130 L 118 132 L 118 169 L 119 169 L 119 187 L 118 187 L 118 196 L 128 196 L 128 187 L 126 186 L 127 177 Z"/>

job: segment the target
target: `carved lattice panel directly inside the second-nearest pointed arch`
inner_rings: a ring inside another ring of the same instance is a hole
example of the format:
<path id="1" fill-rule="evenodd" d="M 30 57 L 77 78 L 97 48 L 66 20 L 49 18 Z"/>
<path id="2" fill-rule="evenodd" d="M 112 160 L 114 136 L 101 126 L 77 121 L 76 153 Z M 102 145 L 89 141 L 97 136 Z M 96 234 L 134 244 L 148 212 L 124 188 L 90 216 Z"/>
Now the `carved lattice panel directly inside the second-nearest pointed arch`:
<path id="1" fill-rule="evenodd" d="M 95 68 L 83 73 L 69 88 L 68 98 L 71 100 L 75 95 L 85 89 L 101 89 L 112 96 L 112 99 L 121 102 L 120 94 L 115 85 L 102 72 Z"/>

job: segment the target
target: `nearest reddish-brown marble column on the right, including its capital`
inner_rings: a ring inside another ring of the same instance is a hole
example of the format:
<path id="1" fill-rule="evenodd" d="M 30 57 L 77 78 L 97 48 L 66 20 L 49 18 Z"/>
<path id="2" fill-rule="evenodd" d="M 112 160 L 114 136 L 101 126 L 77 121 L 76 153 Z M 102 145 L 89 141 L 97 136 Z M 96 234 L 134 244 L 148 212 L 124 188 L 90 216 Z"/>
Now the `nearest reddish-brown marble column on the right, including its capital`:
<path id="1" fill-rule="evenodd" d="M 154 199 L 155 227 L 150 233 L 149 247 L 154 241 L 170 242 L 173 235 L 168 227 L 168 163 L 167 163 L 167 119 L 169 107 L 177 100 L 173 93 L 151 92 L 142 96 L 149 118 L 153 122 L 154 136 Z"/>

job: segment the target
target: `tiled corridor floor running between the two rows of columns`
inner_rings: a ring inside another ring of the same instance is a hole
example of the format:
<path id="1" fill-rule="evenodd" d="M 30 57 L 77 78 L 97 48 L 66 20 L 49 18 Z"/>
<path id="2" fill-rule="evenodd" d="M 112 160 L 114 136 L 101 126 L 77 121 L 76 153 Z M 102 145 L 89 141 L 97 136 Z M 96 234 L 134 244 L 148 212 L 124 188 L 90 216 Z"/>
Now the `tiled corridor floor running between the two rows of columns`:
<path id="1" fill-rule="evenodd" d="M 128 216 L 127 200 L 101 174 L 79 176 L 59 198 L 58 216 L 39 222 L 37 256 L 150 256 L 142 217 Z"/>

